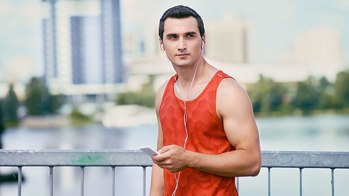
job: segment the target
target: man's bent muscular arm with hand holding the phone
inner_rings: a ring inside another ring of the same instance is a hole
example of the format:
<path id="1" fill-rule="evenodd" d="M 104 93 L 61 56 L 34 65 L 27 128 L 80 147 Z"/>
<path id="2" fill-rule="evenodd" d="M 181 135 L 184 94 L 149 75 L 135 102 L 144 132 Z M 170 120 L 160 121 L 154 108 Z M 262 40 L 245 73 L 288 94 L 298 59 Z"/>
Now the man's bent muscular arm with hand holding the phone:
<path id="1" fill-rule="evenodd" d="M 220 176 L 256 176 L 262 162 L 260 143 L 246 91 L 234 80 L 224 79 L 218 86 L 216 107 L 235 151 L 211 155 L 186 151 L 175 145 L 163 146 L 161 155 L 153 157 L 154 163 L 171 172 L 190 167 Z"/>

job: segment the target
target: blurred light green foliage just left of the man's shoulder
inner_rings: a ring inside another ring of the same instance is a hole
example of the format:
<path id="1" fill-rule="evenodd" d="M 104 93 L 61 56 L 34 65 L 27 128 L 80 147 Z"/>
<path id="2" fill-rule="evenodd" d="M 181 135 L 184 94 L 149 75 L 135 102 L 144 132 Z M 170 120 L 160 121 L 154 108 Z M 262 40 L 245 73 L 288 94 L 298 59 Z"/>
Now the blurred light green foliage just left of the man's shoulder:
<path id="1" fill-rule="evenodd" d="M 145 107 L 155 107 L 154 79 L 154 75 L 149 75 L 149 82 L 144 84 L 138 92 L 119 93 L 116 100 L 117 105 L 137 104 Z"/>

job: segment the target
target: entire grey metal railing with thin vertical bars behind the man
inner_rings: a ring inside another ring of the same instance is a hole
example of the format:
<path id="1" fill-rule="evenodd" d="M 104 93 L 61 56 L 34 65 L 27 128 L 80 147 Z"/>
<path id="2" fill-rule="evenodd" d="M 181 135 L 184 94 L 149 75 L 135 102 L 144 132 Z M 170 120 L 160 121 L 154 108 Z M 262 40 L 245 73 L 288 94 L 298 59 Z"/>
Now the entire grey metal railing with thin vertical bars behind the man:
<path id="1" fill-rule="evenodd" d="M 22 193 L 22 167 L 50 167 L 50 196 L 53 196 L 53 168 L 70 166 L 81 168 L 81 190 L 84 195 L 84 167 L 112 167 L 112 196 L 115 193 L 115 167 L 143 167 L 143 195 L 146 194 L 146 167 L 152 161 L 142 151 L 122 150 L 0 150 L 0 167 L 18 167 L 18 195 Z M 349 169 L 349 152 L 262 151 L 262 167 L 268 169 L 268 195 L 270 196 L 270 169 L 273 167 L 299 168 L 299 195 L 302 196 L 302 169 L 329 168 L 332 170 L 334 195 L 334 169 Z M 239 190 L 239 178 L 237 178 Z"/>

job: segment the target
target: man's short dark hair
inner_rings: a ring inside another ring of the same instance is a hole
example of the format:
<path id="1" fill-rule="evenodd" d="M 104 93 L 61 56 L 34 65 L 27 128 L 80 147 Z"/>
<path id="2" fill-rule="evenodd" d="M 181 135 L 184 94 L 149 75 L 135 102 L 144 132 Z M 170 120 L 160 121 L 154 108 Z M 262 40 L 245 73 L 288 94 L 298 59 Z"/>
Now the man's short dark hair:
<path id="1" fill-rule="evenodd" d="M 198 28 L 200 31 L 200 36 L 205 35 L 205 27 L 204 22 L 202 21 L 202 18 L 200 15 L 195 12 L 192 8 L 189 8 L 187 6 L 174 6 L 172 8 L 169 8 L 168 10 L 163 13 L 163 16 L 160 19 L 160 22 L 158 24 L 158 36 L 160 36 L 161 40 L 163 40 L 163 25 L 165 24 L 165 20 L 168 17 L 172 18 L 186 18 L 186 17 L 195 17 L 195 19 L 198 21 Z"/>

